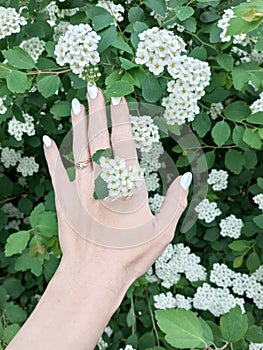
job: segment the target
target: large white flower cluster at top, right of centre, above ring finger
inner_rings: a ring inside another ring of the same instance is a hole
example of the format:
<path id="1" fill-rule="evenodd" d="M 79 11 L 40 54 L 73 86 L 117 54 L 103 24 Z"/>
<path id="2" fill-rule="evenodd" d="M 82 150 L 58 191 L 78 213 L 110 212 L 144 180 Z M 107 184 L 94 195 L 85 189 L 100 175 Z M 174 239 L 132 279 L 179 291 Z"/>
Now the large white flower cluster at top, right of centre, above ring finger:
<path id="1" fill-rule="evenodd" d="M 185 42 L 172 31 L 153 27 L 139 34 L 135 62 L 145 64 L 155 75 L 163 72 L 175 57 L 185 52 Z"/>

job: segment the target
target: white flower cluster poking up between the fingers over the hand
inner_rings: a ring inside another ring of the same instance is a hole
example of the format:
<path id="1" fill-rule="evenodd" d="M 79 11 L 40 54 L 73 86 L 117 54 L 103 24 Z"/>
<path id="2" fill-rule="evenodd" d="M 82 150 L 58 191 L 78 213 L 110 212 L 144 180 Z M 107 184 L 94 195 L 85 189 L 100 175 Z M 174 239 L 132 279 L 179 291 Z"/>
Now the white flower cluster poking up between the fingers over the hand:
<path id="1" fill-rule="evenodd" d="M 131 197 L 142 185 L 143 171 L 135 165 L 127 168 L 125 160 L 120 157 L 101 157 L 100 166 L 100 176 L 107 183 L 109 197 Z"/>

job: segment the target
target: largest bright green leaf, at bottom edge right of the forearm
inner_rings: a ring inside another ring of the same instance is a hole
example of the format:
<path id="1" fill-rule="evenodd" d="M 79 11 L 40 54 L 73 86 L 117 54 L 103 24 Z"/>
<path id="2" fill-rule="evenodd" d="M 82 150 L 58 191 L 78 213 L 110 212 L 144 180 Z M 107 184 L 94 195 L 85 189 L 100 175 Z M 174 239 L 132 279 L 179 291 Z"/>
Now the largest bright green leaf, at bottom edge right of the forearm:
<path id="1" fill-rule="evenodd" d="M 179 349 L 205 347 L 203 327 L 198 317 L 184 309 L 157 310 L 155 317 L 165 340 Z"/>

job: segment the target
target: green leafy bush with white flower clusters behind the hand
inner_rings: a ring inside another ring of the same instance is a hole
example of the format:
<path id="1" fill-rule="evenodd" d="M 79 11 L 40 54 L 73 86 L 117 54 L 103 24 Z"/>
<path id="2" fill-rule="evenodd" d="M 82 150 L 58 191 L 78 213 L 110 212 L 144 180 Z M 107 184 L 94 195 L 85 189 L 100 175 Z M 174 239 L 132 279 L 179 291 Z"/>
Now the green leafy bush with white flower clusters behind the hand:
<path id="1" fill-rule="evenodd" d="M 61 254 L 42 135 L 62 143 L 72 99 L 85 105 L 96 80 L 107 103 L 124 95 L 159 128 L 141 154 L 153 212 L 161 179 L 175 172 L 162 168 L 164 155 L 194 174 L 182 229 L 131 286 L 98 348 L 262 349 L 262 0 L 0 5 L 0 348 Z"/>

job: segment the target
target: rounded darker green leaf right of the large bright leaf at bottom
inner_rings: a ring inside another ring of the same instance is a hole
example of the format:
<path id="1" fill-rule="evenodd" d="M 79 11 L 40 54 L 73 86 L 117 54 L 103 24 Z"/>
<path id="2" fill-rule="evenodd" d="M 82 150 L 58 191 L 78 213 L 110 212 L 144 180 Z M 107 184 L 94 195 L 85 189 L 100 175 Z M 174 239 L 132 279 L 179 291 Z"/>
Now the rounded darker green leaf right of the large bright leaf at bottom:
<path id="1" fill-rule="evenodd" d="M 235 343 L 242 339 L 248 330 L 247 315 L 242 314 L 240 306 L 236 306 L 220 318 L 220 330 L 223 339 Z"/>

